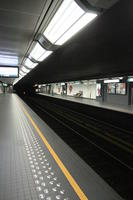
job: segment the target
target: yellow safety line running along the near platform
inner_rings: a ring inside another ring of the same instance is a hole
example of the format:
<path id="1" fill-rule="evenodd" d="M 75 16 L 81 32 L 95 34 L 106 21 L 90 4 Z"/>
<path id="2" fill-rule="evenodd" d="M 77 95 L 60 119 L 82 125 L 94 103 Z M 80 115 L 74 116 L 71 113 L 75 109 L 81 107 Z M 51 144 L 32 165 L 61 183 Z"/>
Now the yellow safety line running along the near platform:
<path id="1" fill-rule="evenodd" d="M 62 163 L 62 161 L 60 160 L 60 158 L 58 157 L 58 155 L 55 153 L 55 151 L 53 150 L 53 148 L 50 146 L 50 144 L 48 143 L 48 141 L 46 140 L 46 138 L 44 137 L 43 133 L 41 132 L 41 130 L 39 129 L 39 127 L 36 125 L 36 123 L 34 122 L 34 120 L 32 119 L 32 117 L 30 116 L 30 114 L 28 113 L 28 111 L 24 108 L 23 105 L 22 105 L 22 107 L 23 107 L 23 110 L 24 110 L 26 116 L 28 117 L 28 119 L 30 120 L 31 124 L 33 125 L 33 127 L 35 128 L 35 130 L 37 131 L 37 133 L 39 134 L 39 136 L 43 140 L 43 142 L 46 145 L 47 149 L 49 150 L 49 152 L 51 153 L 51 155 L 55 159 L 56 163 L 58 164 L 58 166 L 60 167 L 61 171 L 63 172 L 63 174 L 65 175 L 65 177 L 69 181 L 69 183 L 71 184 L 72 188 L 74 189 L 74 191 L 76 192 L 76 194 L 78 195 L 78 197 L 81 200 L 88 200 L 88 198 L 86 197 L 86 195 L 84 194 L 84 192 L 82 191 L 82 189 L 76 183 L 76 181 L 74 180 L 74 178 L 72 177 L 72 175 L 69 173 L 69 171 L 67 170 L 67 168 L 64 166 L 64 164 Z"/>

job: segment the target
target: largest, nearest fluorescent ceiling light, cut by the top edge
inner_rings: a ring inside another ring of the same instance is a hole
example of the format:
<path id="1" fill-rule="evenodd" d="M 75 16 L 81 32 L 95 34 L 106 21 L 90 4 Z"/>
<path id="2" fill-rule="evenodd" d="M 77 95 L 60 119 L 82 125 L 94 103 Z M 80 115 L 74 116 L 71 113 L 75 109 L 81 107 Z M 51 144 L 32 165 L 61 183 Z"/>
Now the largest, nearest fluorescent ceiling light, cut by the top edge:
<path id="1" fill-rule="evenodd" d="M 86 13 L 74 0 L 64 0 L 43 34 L 51 43 L 62 45 L 96 16 Z"/>

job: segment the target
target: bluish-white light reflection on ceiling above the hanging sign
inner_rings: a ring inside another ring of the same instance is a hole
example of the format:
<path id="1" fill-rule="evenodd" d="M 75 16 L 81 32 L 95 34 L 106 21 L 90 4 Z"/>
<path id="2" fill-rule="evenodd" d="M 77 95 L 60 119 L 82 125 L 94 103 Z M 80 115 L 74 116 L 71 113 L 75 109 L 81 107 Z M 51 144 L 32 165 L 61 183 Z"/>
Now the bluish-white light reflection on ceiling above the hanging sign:
<path id="1" fill-rule="evenodd" d="M 17 66 L 18 57 L 10 55 L 0 55 L 0 65 Z"/>

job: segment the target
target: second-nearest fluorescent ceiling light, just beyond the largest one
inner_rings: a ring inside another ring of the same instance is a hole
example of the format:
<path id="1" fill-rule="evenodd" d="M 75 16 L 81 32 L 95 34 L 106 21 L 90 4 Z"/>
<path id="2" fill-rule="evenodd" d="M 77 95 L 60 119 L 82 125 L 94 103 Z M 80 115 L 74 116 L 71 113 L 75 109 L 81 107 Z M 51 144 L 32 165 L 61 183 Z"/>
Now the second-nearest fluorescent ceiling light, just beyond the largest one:
<path id="1" fill-rule="evenodd" d="M 52 51 L 45 50 L 39 43 L 35 45 L 33 50 L 30 53 L 30 56 L 34 58 L 37 61 L 43 61 L 45 58 L 47 58 Z"/>

